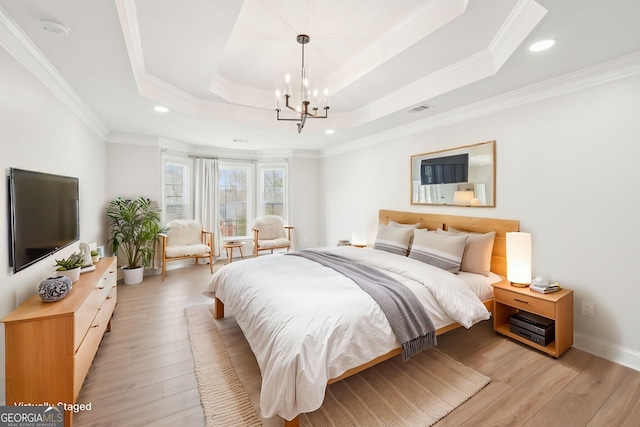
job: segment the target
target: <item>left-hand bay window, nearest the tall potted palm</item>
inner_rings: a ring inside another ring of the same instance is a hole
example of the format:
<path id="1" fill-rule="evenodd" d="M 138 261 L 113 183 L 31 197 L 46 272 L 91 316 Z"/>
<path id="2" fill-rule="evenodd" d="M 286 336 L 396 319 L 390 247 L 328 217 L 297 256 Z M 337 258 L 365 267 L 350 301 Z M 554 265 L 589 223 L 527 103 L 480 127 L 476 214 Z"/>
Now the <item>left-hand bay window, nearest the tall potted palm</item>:
<path id="1" fill-rule="evenodd" d="M 189 159 L 164 158 L 162 213 L 165 223 L 174 219 L 193 219 L 192 168 Z"/>

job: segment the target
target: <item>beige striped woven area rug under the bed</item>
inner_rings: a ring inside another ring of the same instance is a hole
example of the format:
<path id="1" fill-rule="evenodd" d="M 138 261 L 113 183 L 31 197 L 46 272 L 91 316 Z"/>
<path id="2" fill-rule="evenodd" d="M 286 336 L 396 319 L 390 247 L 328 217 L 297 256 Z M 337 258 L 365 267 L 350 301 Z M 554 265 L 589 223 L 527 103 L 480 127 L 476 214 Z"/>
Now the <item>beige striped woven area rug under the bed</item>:
<path id="1" fill-rule="evenodd" d="M 261 425 L 211 307 L 190 307 L 185 315 L 207 426 Z M 437 349 L 407 362 L 395 357 L 330 385 L 322 407 L 300 415 L 300 426 L 431 426 L 489 382 Z"/>

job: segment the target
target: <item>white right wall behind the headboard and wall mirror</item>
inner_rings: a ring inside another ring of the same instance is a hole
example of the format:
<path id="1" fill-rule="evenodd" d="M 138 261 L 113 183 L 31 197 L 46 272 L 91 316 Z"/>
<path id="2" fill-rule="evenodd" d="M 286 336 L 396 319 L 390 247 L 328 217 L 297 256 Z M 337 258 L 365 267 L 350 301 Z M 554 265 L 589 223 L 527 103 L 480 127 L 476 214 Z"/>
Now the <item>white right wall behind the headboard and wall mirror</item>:
<path id="1" fill-rule="evenodd" d="M 412 154 L 488 140 L 495 208 L 410 204 Z M 373 243 L 379 209 L 518 219 L 533 234 L 534 276 L 575 291 L 575 346 L 640 370 L 639 159 L 638 76 L 398 137 L 323 159 L 325 243 L 361 225 Z"/>

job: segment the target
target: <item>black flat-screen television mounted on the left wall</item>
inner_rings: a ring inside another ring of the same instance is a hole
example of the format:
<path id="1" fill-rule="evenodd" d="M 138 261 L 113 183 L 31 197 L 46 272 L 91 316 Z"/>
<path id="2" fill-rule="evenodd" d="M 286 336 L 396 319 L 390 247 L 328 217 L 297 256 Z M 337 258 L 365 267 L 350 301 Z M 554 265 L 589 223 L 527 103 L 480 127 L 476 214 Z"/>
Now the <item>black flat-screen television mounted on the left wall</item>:
<path id="1" fill-rule="evenodd" d="M 78 178 L 11 168 L 8 181 L 9 265 L 17 273 L 78 241 Z"/>

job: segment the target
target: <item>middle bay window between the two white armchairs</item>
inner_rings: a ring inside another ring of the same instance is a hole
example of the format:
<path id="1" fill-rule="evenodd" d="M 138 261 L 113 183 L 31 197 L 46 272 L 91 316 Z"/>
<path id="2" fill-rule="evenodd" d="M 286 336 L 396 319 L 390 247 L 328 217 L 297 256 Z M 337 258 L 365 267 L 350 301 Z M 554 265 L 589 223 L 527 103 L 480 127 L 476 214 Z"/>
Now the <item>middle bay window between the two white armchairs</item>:
<path id="1" fill-rule="evenodd" d="M 251 170 L 245 165 L 220 165 L 218 206 L 223 239 L 249 236 Z"/>

